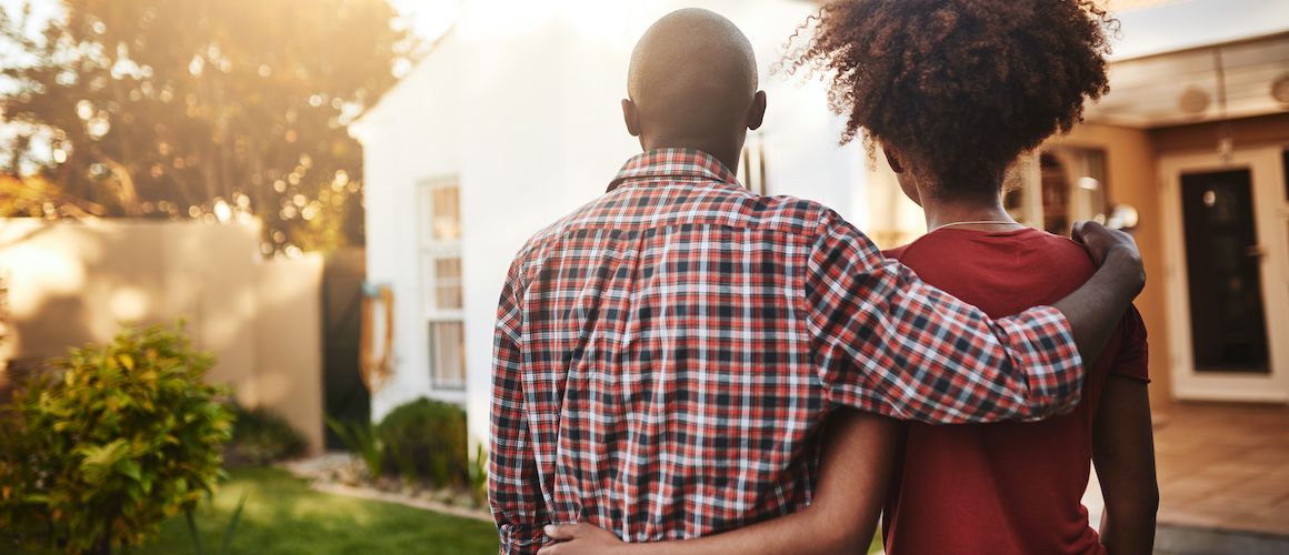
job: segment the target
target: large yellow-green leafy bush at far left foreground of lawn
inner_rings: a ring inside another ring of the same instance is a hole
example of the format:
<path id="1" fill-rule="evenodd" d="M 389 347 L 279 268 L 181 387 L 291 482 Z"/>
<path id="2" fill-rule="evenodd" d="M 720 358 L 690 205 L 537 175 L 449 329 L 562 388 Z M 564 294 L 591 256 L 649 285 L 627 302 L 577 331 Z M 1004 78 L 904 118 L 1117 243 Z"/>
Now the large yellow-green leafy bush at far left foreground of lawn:
<path id="1" fill-rule="evenodd" d="M 182 328 L 129 328 L 26 384 L 0 433 L 0 537 L 110 552 L 192 510 L 223 476 L 232 433 L 213 357 Z"/>

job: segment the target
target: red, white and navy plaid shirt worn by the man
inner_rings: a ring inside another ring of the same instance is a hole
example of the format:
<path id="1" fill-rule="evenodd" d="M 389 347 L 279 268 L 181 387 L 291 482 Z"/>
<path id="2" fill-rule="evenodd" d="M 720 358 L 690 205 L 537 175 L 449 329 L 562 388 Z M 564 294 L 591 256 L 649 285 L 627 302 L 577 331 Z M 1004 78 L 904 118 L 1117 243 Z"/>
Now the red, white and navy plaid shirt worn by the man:
<path id="1" fill-rule="evenodd" d="M 1081 384 L 1056 309 L 990 319 L 824 206 L 753 194 L 699 151 L 646 152 L 534 236 L 501 291 L 501 551 L 535 551 L 548 523 L 659 541 L 800 509 L 835 406 L 1030 420 Z"/>

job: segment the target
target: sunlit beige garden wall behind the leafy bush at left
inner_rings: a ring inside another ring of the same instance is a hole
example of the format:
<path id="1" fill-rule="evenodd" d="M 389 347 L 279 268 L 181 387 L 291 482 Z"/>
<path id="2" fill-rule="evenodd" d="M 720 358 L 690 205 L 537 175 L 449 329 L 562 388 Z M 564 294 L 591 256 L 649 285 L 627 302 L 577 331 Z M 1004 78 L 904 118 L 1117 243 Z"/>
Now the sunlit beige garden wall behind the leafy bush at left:
<path id="1" fill-rule="evenodd" d="M 12 336 L 0 358 L 103 343 L 122 322 L 187 321 L 214 382 L 322 446 L 320 256 L 264 260 L 258 224 L 0 219 Z"/>

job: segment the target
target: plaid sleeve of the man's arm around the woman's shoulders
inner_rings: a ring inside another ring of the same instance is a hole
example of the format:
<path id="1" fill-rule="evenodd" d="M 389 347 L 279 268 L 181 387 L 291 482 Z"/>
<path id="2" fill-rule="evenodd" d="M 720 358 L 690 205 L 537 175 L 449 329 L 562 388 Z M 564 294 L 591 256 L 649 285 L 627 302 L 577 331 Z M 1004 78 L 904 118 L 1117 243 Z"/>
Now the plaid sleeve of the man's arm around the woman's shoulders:
<path id="1" fill-rule="evenodd" d="M 1083 389 L 1070 323 L 1051 306 L 990 319 L 940 291 L 828 211 L 806 270 L 826 398 L 933 424 L 1039 420 Z"/>

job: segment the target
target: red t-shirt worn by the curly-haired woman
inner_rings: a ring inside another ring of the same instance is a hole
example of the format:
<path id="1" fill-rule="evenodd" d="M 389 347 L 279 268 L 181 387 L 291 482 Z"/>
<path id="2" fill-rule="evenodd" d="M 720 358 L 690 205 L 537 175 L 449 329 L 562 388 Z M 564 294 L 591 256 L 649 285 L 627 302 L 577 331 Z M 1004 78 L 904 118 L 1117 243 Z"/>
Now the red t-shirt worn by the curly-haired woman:
<path id="1" fill-rule="evenodd" d="M 995 318 L 1056 303 L 1094 272 L 1083 247 L 1035 229 L 941 229 L 887 255 Z M 1148 381 L 1136 308 L 1088 368 L 1074 412 L 1042 422 L 907 424 L 883 518 L 887 552 L 1103 554 L 1080 500 L 1110 373 Z"/>

